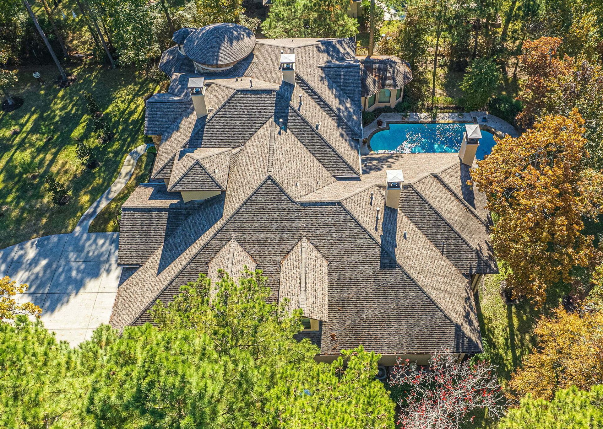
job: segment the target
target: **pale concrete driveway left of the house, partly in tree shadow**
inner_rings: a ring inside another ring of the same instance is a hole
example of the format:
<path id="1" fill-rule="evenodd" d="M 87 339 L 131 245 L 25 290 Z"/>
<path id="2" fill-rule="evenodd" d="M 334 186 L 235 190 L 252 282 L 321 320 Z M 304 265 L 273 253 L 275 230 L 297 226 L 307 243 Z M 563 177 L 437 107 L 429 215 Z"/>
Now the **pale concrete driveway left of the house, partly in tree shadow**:
<path id="1" fill-rule="evenodd" d="M 119 233 L 40 237 L 0 250 L 0 276 L 30 285 L 20 302 L 42 308 L 42 321 L 72 346 L 108 323 L 122 269 Z"/>

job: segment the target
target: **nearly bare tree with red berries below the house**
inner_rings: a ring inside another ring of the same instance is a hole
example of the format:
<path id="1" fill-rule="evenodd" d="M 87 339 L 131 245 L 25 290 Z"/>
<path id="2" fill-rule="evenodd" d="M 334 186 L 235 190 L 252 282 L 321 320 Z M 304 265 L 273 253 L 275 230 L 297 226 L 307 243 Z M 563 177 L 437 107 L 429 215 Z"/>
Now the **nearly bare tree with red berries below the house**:
<path id="1" fill-rule="evenodd" d="M 475 409 L 500 417 L 506 406 L 494 366 L 458 362 L 447 350 L 435 352 L 423 369 L 399 359 L 389 383 L 405 392 L 399 401 L 403 429 L 458 429 L 473 421 Z"/>

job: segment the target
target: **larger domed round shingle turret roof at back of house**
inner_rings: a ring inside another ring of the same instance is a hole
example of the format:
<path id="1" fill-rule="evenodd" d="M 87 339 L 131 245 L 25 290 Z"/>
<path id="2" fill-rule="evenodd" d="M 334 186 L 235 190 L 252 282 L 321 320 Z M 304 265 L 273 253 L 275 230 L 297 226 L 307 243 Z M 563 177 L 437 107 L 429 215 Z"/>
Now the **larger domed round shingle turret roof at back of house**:
<path id="1" fill-rule="evenodd" d="M 186 37 L 187 57 L 199 64 L 221 66 L 247 57 L 256 46 L 256 36 L 247 27 L 233 23 L 206 25 Z"/>

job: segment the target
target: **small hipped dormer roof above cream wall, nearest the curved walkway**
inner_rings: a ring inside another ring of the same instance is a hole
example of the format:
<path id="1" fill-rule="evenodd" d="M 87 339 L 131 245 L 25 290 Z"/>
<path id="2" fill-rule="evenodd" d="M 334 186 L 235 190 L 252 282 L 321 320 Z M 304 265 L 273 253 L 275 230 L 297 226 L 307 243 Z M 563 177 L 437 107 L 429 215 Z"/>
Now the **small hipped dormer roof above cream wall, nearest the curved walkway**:
<path id="1" fill-rule="evenodd" d="M 180 149 L 175 158 L 169 191 L 226 190 L 230 148 Z"/>

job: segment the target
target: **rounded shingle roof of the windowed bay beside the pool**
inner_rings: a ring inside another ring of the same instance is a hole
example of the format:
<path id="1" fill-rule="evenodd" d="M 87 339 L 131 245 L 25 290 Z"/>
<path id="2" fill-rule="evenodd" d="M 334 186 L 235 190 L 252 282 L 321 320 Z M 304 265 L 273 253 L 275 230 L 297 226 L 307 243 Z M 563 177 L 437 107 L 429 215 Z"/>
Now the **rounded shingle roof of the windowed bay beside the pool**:
<path id="1" fill-rule="evenodd" d="M 412 80 L 411 67 L 393 55 L 358 57 L 361 68 L 362 96 L 381 89 L 398 89 Z"/>

